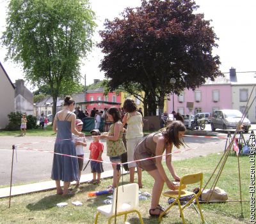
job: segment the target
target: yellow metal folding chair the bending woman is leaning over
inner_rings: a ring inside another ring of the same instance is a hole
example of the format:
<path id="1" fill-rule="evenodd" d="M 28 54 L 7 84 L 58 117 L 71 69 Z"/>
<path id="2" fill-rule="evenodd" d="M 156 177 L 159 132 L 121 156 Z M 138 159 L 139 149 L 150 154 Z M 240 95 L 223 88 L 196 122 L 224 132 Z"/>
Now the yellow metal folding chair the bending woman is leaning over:
<path id="1" fill-rule="evenodd" d="M 182 189 L 182 186 L 184 186 L 184 184 L 188 185 L 188 184 L 195 184 L 200 182 L 200 187 L 199 187 L 199 192 L 198 193 L 194 193 L 192 191 L 186 191 L 184 189 Z M 202 191 L 202 184 L 203 184 L 203 173 L 197 173 L 197 174 L 188 174 L 188 175 L 184 175 L 181 179 L 180 179 L 180 187 L 179 190 L 174 190 L 174 191 L 166 191 L 163 193 L 164 196 L 166 197 L 170 197 L 170 198 L 174 198 L 174 202 L 172 202 L 172 204 L 170 204 L 170 206 L 165 209 L 165 211 L 159 216 L 158 221 L 159 223 L 162 221 L 163 215 L 165 213 L 167 213 L 168 210 L 170 210 L 173 205 L 175 205 L 175 203 L 177 203 L 179 205 L 179 210 L 180 210 L 180 217 L 182 218 L 182 222 L 185 224 L 185 219 L 184 219 L 184 215 L 183 215 L 183 210 L 188 207 L 188 205 L 191 204 L 191 202 L 193 202 L 193 200 L 196 200 L 196 205 L 198 206 L 199 209 L 199 213 L 202 219 L 202 223 L 205 223 L 204 221 L 204 216 L 200 207 L 200 204 L 198 202 L 198 197 L 201 194 Z M 181 197 L 185 197 L 185 196 L 189 196 L 189 195 L 193 195 L 193 197 L 188 201 L 188 203 L 186 205 L 181 206 L 180 205 L 180 201 L 179 199 Z"/>

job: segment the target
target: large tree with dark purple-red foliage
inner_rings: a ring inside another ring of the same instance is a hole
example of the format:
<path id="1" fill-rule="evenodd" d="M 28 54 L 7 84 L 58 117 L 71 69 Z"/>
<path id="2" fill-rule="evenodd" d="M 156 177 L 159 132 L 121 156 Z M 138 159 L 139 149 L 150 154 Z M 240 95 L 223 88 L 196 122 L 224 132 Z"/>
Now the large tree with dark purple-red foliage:
<path id="1" fill-rule="evenodd" d="M 158 105 L 161 113 L 166 93 L 195 89 L 221 75 L 219 57 L 212 56 L 216 34 L 197 8 L 193 0 L 142 0 L 140 7 L 106 20 L 100 68 L 111 88 L 139 84 L 148 108 Z"/>

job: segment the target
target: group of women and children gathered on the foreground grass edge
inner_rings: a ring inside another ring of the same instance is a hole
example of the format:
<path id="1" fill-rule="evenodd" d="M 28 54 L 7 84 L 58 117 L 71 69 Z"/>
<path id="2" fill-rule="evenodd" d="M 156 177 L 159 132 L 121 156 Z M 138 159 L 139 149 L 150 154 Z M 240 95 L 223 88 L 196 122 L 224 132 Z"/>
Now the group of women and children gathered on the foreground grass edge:
<path id="1" fill-rule="evenodd" d="M 72 194 L 72 191 L 68 190 L 72 181 L 76 181 L 75 188 L 79 187 L 83 168 L 84 147 L 87 144 L 84 133 L 81 132 L 83 118 L 79 117 L 78 111 L 77 116 L 79 119 L 77 119 L 76 114 L 73 112 L 75 102 L 70 96 L 65 98 L 64 106 L 63 110 L 56 113 L 52 126 L 52 129 L 57 133 L 57 140 L 54 145 L 56 154 L 54 154 L 52 162 L 51 178 L 56 181 L 56 193 L 58 195 Z M 104 172 L 102 153 L 106 150 L 113 167 L 113 183 L 108 187 L 116 188 L 121 176 L 120 170 L 116 167 L 118 163 L 122 163 L 122 154 L 127 152 L 130 183 L 134 183 L 135 169 L 137 170 L 140 188 L 143 188 L 142 170 L 148 172 L 154 179 L 149 214 L 150 216 L 159 216 L 164 211 L 163 207 L 159 205 L 164 183 L 171 190 L 175 189 L 162 165 L 164 152 L 166 154 L 166 165 L 173 179 L 175 181 L 180 180 L 172 165 L 170 156 L 173 146 L 179 148 L 183 145 L 182 136 L 186 128 L 182 121 L 178 120 L 179 116 L 177 116 L 177 121 L 173 121 L 172 124 L 166 127 L 166 130 L 157 131 L 143 137 L 143 114 L 141 108 L 137 109 L 136 103 L 132 98 L 127 98 L 124 101 L 123 108 L 111 107 L 105 109 L 102 113 L 93 108 L 93 111 L 91 115 L 95 119 L 95 129 L 91 131 L 93 141 L 89 146 L 89 160 L 93 179 L 89 183 L 100 183 L 100 174 Z M 99 122 L 102 116 L 104 116 L 106 126 L 104 126 L 104 132 L 100 133 Z M 127 148 L 123 140 L 124 132 Z M 65 139 L 65 142 L 61 141 L 61 139 Z M 100 142 L 102 139 L 106 140 L 106 149 L 104 149 L 104 144 Z M 63 154 L 71 156 L 63 156 Z M 60 186 L 60 181 L 64 182 L 63 188 Z"/>

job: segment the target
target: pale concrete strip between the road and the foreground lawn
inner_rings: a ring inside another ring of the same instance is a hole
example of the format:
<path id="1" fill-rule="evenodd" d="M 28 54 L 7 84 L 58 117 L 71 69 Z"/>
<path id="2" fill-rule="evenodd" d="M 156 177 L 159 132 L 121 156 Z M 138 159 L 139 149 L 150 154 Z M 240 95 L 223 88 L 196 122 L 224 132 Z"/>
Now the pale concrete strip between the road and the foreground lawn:
<path id="1" fill-rule="evenodd" d="M 127 174 L 124 170 L 123 174 Z M 101 178 L 105 179 L 108 177 L 113 177 L 113 170 L 105 171 L 101 174 Z M 81 175 L 81 183 L 86 183 L 87 181 L 92 180 L 92 174 L 84 174 Z M 71 184 L 76 184 L 76 181 Z M 63 186 L 63 182 L 61 182 L 61 186 Z M 33 193 L 38 191 L 46 191 L 46 190 L 54 190 L 56 189 L 55 181 L 44 181 L 34 184 L 24 184 L 20 186 L 12 187 L 12 196 L 24 195 L 26 193 Z M 10 187 L 8 188 L 0 188 L 0 198 L 5 198 L 10 196 Z"/>

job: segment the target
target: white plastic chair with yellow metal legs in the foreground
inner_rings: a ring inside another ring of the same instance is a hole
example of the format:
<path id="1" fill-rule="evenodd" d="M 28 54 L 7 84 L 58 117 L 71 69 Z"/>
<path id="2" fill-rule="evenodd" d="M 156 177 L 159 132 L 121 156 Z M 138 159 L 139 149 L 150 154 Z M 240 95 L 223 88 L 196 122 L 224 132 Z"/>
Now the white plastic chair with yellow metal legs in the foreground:
<path id="1" fill-rule="evenodd" d="M 117 216 L 124 215 L 124 223 L 127 219 L 127 214 L 137 213 L 140 218 L 140 223 L 143 224 L 139 209 L 139 186 L 136 183 L 125 184 L 118 186 L 118 198 L 117 198 Z M 112 218 L 115 218 L 116 208 L 116 189 L 113 193 L 113 203 L 111 205 L 103 205 L 97 207 L 98 213 L 95 216 L 95 224 L 98 222 L 99 214 L 103 214 L 108 217 L 108 223 L 111 223 Z"/>

